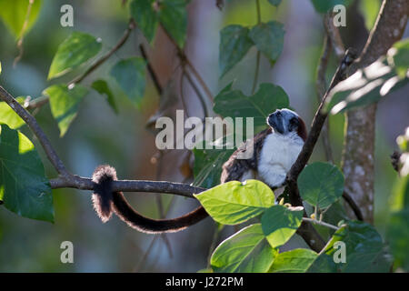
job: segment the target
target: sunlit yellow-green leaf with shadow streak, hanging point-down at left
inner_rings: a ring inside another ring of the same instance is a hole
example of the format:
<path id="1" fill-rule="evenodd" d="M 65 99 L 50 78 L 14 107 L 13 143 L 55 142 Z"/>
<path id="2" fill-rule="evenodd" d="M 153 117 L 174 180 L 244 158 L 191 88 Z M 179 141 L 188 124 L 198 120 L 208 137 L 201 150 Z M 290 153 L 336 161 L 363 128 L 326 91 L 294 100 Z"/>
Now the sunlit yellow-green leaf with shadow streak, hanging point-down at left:
<path id="1" fill-rule="evenodd" d="M 50 98 L 51 113 L 58 122 L 60 136 L 64 136 L 78 114 L 79 105 L 88 94 L 88 89 L 83 85 L 75 85 L 73 88 L 64 84 L 52 85 L 43 94 Z"/>

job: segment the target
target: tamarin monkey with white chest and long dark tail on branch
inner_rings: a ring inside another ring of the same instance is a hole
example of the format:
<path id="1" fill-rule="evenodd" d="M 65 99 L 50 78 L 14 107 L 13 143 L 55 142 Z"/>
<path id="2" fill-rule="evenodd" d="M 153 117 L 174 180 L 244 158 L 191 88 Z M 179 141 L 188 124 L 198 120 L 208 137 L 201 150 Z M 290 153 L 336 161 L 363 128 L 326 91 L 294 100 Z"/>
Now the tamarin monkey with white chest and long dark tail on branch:
<path id="1" fill-rule="evenodd" d="M 276 110 L 267 117 L 269 127 L 245 142 L 224 163 L 221 183 L 259 179 L 270 187 L 284 185 L 285 176 L 293 166 L 306 139 L 303 119 L 289 109 Z M 248 144 L 252 142 L 253 144 Z M 253 146 L 253 156 L 239 159 L 249 146 Z M 195 225 L 208 214 L 203 206 L 173 219 L 152 219 L 140 215 L 128 204 L 122 192 L 112 191 L 116 171 L 112 166 L 98 166 L 93 175 L 95 183 L 92 200 L 96 213 L 103 222 L 114 212 L 128 226 L 149 234 L 177 232 Z"/>

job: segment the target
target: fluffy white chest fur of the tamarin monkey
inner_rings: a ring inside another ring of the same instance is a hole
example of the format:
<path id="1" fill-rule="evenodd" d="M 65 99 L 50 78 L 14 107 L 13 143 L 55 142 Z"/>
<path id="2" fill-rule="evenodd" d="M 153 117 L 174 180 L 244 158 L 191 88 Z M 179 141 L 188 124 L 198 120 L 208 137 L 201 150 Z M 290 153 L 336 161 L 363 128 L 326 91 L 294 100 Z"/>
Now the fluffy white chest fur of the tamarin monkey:
<path id="1" fill-rule="evenodd" d="M 252 177 L 251 173 L 246 173 L 242 181 L 256 178 L 271 187 L 282 186 L 303 145 L 303 139 L 296 134 L 267 135 L 258 160 L 257 174 Z"/>

